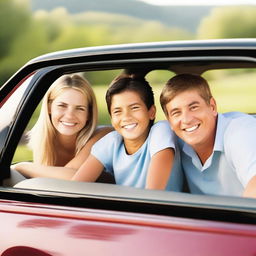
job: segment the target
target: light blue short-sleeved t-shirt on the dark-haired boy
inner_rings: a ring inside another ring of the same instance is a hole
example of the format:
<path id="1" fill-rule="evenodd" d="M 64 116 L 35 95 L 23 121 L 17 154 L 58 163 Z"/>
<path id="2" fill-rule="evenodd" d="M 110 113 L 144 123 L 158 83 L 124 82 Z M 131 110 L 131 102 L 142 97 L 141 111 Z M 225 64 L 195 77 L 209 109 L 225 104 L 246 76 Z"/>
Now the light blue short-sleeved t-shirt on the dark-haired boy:
<path id="1" fill-rule="evenodd" d="M 122 136 L 110 132 L 94 144 L 91 154 L 114 174 L 119 185 L 145 188 L 150 160 L 154 154 L 166 149 L 175 149 L 175 162 L 166 190 L 181 191 L 183 173 L 176 138 L 167 121 L 155 123 L 141 148 L 132 155 L 126 153 Z"/>

